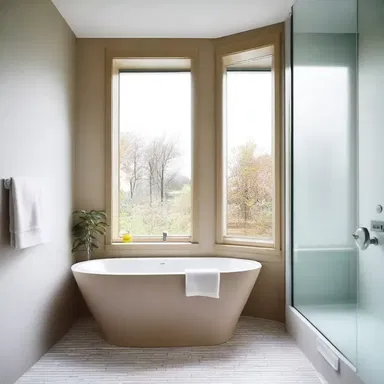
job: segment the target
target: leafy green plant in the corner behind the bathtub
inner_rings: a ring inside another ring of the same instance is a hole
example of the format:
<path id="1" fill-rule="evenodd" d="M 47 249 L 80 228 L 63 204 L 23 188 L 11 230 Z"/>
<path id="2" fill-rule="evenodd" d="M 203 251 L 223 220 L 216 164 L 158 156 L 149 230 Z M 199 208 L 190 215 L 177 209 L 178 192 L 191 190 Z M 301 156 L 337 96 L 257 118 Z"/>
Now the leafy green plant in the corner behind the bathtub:
<path id="1" fill-rule="evenodd" d="M 85 251 L 87 259 L 93 256 L 93 251 L 99 248 L 98 236 L 105 236 L 108 227 L 105 211 L 75 211 L 73 212 L 73 245 L 72 252 Z"/>

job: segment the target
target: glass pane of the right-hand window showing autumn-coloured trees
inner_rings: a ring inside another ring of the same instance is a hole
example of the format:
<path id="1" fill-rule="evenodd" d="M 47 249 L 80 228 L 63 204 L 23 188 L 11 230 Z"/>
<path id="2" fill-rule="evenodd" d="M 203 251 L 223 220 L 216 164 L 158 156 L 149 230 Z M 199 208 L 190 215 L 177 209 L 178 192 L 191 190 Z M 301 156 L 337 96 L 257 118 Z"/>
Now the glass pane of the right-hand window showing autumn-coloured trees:
<path id="1" fill-rule="evenodd" d="M 228 68 L 228 237 L 272 241 L 272 76 Z"/>

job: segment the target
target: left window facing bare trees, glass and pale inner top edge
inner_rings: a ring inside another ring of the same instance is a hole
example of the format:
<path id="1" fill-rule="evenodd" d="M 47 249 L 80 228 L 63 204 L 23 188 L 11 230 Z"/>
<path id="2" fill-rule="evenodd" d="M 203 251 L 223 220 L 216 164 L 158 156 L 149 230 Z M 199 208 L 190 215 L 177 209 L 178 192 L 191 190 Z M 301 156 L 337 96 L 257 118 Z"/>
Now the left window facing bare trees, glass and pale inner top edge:
<path id="1" fill-rule="evenodd" d="M 126 59 L 116 76 L 112 242 L 191 242 L 190 60 Z"/>

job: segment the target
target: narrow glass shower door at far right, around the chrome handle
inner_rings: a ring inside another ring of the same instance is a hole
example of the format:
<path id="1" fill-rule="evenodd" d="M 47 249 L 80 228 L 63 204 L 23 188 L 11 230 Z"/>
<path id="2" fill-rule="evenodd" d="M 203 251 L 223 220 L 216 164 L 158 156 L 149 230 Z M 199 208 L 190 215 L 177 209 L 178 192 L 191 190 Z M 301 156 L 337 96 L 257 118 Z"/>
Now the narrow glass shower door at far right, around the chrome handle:
<path id="1" fill-rule="evenodd" d="M 384 220 L 384 1 L 359 1 L 359 224 Z M 384 236 L 359 257 L 358 374 L 384 383 Z"/>

